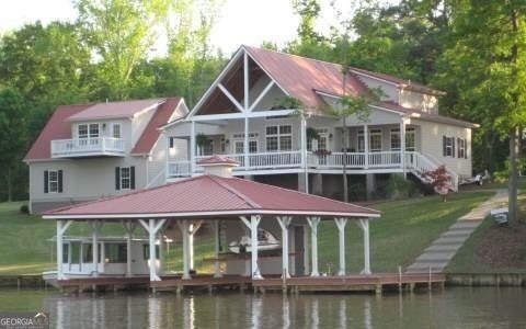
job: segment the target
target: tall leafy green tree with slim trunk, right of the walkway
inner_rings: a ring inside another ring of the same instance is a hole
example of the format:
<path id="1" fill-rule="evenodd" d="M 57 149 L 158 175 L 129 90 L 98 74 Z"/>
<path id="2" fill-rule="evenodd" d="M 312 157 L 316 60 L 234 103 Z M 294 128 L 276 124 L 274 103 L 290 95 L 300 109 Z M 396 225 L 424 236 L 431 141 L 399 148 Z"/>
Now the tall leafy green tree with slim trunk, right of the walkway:
<path id="1" fill-rule="evenodd" d="M 508 140 L 510 220 L 517 220 L 521 132 L 526 125 L 526 3 L 521 0 L 458 1 L 450 47 L 445 57 L 465 75 L 460 106 L 470 107 L 484 126 Z"/>

